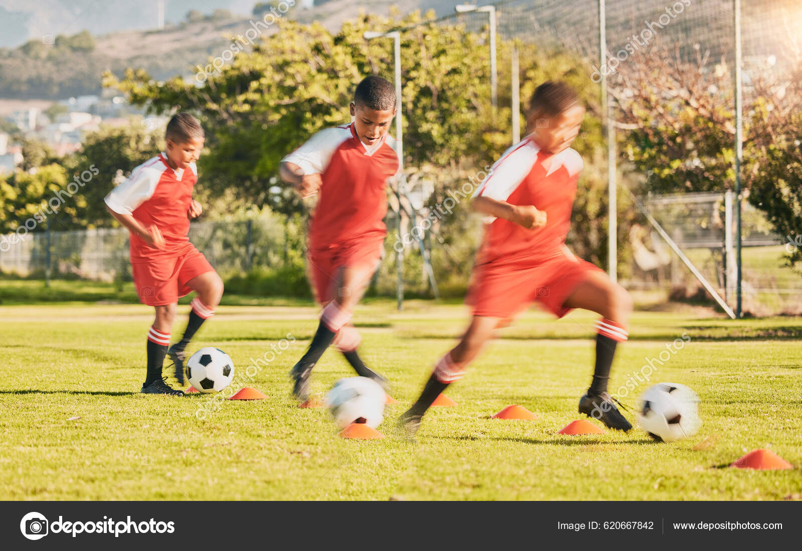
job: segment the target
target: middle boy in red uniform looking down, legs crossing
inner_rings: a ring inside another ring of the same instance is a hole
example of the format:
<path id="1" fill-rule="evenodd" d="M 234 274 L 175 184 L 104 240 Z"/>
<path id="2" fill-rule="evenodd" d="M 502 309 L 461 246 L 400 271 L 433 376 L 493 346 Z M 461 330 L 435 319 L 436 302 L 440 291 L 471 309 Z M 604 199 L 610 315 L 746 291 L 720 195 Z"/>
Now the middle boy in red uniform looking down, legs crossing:
<path id="1" fill-rule="evenodd" d="M 306 354 L 290 376 L 293 394 L 306 400 L 310 375 L 330 344 L 360 376 L 387 388 L 387 381 L 359 358 L 359 333 L 350 324 L 354 308 L 379 266 L 387 228 L 386 183 L 399 169 L 387 131 L 395 116 L 395 90 L 380 77 L 359 82 L 350 104 L 354 122 L 312 136 L 281 164 L 281 176 L 303 197 L 319 194 L 312 218 L 307 261 L 323 312 Z"/>

